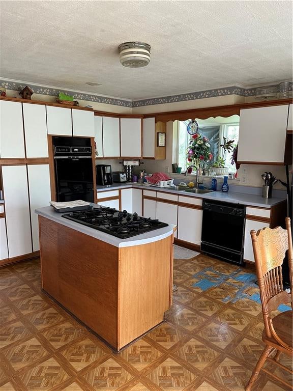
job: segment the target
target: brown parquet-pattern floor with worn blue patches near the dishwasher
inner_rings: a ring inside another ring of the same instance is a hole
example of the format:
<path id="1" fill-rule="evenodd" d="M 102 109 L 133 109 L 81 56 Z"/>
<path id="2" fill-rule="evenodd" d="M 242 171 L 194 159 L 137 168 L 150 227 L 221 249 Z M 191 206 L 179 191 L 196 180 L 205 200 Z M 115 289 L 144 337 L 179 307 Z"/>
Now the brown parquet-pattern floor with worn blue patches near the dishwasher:
<path id="1" fill-rule="evenodd" d="M 176 260 L 178 289 L 166 322 L 115 354 L 41 291 L 38 260 L 4 267 L 0 390 L 244 391 L 263 346 L 261 306 L 249 299 L 258 288 L 246 287 L 254 278 L 249 273 L 203 255 Z M 265 373 L 254 387 L 284 390 Z"/>

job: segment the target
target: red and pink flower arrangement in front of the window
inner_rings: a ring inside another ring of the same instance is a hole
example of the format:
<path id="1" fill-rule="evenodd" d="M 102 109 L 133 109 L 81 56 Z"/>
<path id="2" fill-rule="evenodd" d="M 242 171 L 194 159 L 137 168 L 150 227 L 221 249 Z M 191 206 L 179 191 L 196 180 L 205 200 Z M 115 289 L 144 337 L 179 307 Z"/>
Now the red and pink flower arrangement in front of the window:
<path id="1" fill-rule="evenodd" d="M 200 133 L 192 135 L 187 148 L 187 161 L 205 162 L 213 159 L 209 139 Z"/>

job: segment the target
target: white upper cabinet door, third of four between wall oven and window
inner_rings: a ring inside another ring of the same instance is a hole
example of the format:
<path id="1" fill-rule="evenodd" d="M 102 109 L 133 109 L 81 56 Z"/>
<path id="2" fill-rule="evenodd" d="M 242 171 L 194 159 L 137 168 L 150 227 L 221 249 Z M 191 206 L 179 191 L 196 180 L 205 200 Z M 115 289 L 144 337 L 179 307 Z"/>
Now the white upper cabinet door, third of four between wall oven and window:
<path id="1" fill-rule="evenodd" d="M 121 156 L 141 157 L 141 119 L 120 119 Z"/>

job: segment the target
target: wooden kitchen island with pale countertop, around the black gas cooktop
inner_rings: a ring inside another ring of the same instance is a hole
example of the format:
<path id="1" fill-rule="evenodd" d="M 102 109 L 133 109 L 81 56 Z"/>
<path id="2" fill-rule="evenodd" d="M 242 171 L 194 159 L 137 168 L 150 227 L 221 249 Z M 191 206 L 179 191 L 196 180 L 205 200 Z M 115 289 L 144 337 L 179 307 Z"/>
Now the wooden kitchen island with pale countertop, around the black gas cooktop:
<path id="1" fill-rule="evenodd" d="M 174 226 L 120 239 L 52 207 L 36 213 L 46 293 L 116 352 L 163 322 L 172 297 Z"/>

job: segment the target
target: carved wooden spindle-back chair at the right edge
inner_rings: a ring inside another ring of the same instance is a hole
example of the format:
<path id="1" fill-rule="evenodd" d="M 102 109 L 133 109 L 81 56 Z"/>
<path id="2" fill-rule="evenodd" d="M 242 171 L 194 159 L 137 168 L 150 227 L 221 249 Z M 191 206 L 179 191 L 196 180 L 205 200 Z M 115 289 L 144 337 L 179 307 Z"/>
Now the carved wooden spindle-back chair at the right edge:
<path id="1" fill-rule="evenodd" d="M 262 304 L 262 316 L 265 322 L 265 329 L 262 333 L 262 341 L 266 347 L 261 353 L 256 367 L 251 375 L 251 378 L 245 387 L 246 391 L 250 391 L 255 382 L 259 371 L 265 371 L 279 380 L 285 385 L 289 385 L 272 371 L 262 368 L 265 361 L 268 359 L 274 364 L 280 366 L 283 370 L 293 373 L 289 368 L 283 366 L 278 359 L 281 352 L 292 357 L 292 310 L 285 311 L 275 317 L 271 317 L 272 311 L 275 311 L 280 304 L 291 303 L 292 308 L 292 280 L 293 280 L 293 250 L 292 237 L 290 228 L 290 219 L 286 217 L 286 229 L 281 227 L 275 229 L 263 228 L 257 233 L 252 230 L 250 232 L 253 253 L 255 259 L 255 267 L 257 280 L 260 290 L 260 298 Z M 285 253 L 288 251 L 288 264 L 290 274 L 291 292 L 287 293 L 283 289 L 282 282 L 282 264 Z M 277 350 L 274 358 L 269 357 L 269 354 Z"/>

